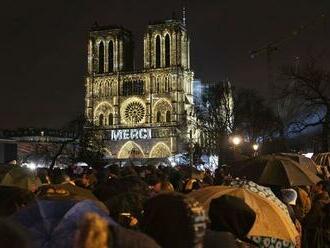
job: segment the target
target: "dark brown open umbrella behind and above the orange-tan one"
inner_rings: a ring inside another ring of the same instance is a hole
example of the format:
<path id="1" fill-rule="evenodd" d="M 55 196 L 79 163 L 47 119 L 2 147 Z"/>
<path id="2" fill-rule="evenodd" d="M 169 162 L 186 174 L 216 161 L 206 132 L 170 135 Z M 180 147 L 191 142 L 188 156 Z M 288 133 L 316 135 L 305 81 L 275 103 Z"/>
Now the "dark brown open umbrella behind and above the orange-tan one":
<path id="1" fill-rule="evenodd" d="M 265 155 L 233 164 L 230 173 L 262 185 L 284 187 L 312 185 L 321 180 L 309 169 L 279 155 Z"/>

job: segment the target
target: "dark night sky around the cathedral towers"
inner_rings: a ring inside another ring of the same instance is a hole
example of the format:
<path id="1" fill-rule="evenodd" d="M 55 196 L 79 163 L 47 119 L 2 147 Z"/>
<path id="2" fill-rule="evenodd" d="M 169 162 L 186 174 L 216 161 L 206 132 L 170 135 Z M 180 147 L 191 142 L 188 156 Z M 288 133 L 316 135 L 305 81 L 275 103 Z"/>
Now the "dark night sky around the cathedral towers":
<path id="1" fill-rule="evenodd" d="M 249 51 L 322 12 L 327 25 L 284 44 L 273 56 L 274 67 L 329 48 L 329 0 L 187 2 L 192 68 L 203 81 L 230 78 L 235 87 L 264 92 L 265 55 L 251 60 Z M 83 112 L 87 31 L 95 21 L 133 31 L 139 67 L 148 22 L 180 9 L 179 0 L 2 0 L 0 128 L 60 127 Z"/>

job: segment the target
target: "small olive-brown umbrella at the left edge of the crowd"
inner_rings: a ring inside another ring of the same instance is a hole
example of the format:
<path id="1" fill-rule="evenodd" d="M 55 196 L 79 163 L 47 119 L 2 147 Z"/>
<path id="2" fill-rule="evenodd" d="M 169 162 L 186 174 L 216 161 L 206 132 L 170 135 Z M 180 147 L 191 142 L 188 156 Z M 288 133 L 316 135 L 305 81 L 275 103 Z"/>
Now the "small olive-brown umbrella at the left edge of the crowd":
<path id="1" fill-rule="evenodd" d="M 12 169 L 5 174 L 0 185 L 14 186 L 35 191 L 41 185 L 41 181 L 30 169 L 13 166 Z"/>

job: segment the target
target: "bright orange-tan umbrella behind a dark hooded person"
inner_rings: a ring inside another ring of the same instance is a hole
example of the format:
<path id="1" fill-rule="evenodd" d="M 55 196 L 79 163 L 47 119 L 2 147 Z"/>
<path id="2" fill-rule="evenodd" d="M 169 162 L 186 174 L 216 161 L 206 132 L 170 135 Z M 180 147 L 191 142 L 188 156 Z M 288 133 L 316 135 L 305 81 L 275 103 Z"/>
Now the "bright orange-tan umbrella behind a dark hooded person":
<path id="1" fill-rule="evenodd" d="M 208 210 L 212 199 L 231 195 L 243 199 L 256 213 L 256 220 L 248 236 L 272 237 L 295 243 L 298 232 L 290 217 L 275 203 L 241 187 L 210 186 L 189 194 Z"/>

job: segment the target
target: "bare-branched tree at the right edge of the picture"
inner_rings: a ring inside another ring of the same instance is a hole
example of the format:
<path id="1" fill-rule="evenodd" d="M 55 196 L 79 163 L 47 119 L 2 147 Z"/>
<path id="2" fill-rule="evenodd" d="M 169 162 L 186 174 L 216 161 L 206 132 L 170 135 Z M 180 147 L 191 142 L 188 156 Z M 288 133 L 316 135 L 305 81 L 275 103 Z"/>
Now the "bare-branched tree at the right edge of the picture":
<path id="1" fill-rule="evenodd" d="M 289 123 L 291 132 L 299 133 L 311 127 L 322 127 L 323 152 L 329 148 L 330 133 L 330 79 L 329 71 L 321 60 L 309 58 L 302 65 L 288 65 L 282 69 L 285 86 L 280 89 L 280 98 L 297 99 L 299 111 Z"/>

